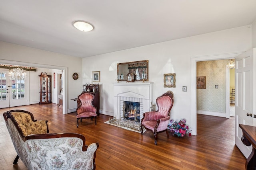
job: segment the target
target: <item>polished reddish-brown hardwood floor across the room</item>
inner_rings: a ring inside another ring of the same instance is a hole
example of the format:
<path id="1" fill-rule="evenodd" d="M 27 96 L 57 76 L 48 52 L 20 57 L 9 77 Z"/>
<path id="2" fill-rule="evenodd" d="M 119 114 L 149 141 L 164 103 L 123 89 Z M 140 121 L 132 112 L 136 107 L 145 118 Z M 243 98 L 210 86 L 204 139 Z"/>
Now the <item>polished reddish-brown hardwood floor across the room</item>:
<path id="1" fill-rule="evenodd" d="M 62 114 L 56 104 L 34 104 L 0 109 L 23 109 L 35 119 L 47 119 L 50 133 L 74 132 L 86 137 L 86 145 L 98 142 L 98 170 L 244 170 L 246 159 L 234 143 L 234 117 L 230 119 L 207 115 L 197 116 L 198 135 L 167 139 L 166 133 L 143 135 L 104 123 L 110 116 L 100 114 L 97 125 L 84 119 L 76 128 L 76 114 Z M 0 169 L 26 170 L 19 160 L 12 165 L 16 151 L 0 116 Z"/>

